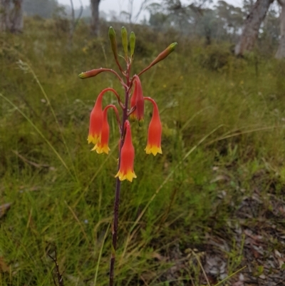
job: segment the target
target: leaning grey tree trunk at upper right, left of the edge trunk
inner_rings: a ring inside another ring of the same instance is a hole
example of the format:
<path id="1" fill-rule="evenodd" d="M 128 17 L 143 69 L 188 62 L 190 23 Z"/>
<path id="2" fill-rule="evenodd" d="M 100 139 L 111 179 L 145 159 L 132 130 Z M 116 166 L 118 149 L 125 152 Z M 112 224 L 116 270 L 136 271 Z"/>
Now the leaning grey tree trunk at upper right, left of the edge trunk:
<path id="1" fill-rule="evenodd" d="M 252 7 L 252 11 L 244 22 L 242 36 L 234 48 L 234 53 L 237 56 L 242 56 L 245 51 L 250 51 L 254 47 L 254 42 L 259 34 L 259 27 L 273 1 L 274 0 L 257 0 Z"/>

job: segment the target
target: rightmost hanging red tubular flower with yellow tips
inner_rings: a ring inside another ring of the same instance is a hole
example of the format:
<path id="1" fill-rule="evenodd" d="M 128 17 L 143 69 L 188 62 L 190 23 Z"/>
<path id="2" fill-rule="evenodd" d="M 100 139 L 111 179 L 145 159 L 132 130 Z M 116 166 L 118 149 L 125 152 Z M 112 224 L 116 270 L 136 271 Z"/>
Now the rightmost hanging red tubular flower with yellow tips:
<path id="1" fill-rule="evenodd" d="M 150 101 L 153 105 L 152 119 L 150 121 L 150 126 L 148 127 L 147 147 L 145 148 L 145 152 L 147 154 L 152 153 L 153 155 L 156 155 L 157 153 L 162 154 L 162 126 L 160 122 L 160 113 L 158 111 L 157 104 L 152 98 L 145 97 L 145 100 Z"/>

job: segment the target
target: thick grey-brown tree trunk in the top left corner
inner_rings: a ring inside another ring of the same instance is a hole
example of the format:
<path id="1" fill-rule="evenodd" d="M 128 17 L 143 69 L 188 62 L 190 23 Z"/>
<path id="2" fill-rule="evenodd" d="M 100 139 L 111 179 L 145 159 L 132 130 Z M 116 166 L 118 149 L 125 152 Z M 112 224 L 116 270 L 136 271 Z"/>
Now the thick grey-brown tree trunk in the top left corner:
<path id="1" fill-rule="evenodd" d="M 23 0 L 0 0 L 0 31 L 23 31 Z"/>

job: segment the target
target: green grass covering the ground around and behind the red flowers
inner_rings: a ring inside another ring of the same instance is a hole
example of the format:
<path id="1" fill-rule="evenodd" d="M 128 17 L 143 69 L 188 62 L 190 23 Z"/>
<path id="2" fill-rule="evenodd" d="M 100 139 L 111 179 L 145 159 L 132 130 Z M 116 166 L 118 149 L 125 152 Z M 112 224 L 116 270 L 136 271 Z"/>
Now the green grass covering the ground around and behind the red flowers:
<path id="1" fill-rule="evenodd" d="M 55 246 L 66 285 L 108 285 L 115 118 L 110 155 L 90 153 L 86 138 L 98 93 L 123 90 L 112 74 L 78 78 L 91 68 L 115 68 L 104 31 L 103 39 L 90 39 L 81 24 L 72 50 L 52 21 L 27 19 L 24 34 L 0 35 L 0 205 L 11 203 L 0 220 L 0 285 L 52 285 L 48 253 Z M 284 189 L 284 63 L 222 53 L 225 64 L 216 68 L 215 48 L 139 26 L 134 31 L 134 73 L 171 42 L 178 46 L 141 77 L 145 96 L 161 111 L 163 154 L 145 155 L 147 106 L 145 126 L 132 126 L 138 178 L 122 184 L 117 284 L 199 285 L 206 235 L 224 231 L 231 275 L 244 252 L 227 222 L 240 223 L 234 213 L 244 195 L 258 189 L 266 202 L 266 194 L 281 198 Z M 110 101 L 114 96 L 105 96 Z M 169 275 L 175 254 L 176 260 L 189 255 L 179 278 Z"/>

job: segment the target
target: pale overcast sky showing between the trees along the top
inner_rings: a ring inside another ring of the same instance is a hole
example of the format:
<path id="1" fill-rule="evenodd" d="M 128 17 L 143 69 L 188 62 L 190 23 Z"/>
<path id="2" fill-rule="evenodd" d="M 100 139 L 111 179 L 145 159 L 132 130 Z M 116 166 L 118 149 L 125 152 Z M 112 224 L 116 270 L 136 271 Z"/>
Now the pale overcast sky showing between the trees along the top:
<path id="1" fill-rule="evenodd" d="M 90 0 L 81 0 L 83 3 L 83 6 L 88 6 L 90 4 Z M 142 3 L 143 0 L 134 0 L 133 3 L 133 14 L 135 15 L 136 12 L 138 12 L 138 9 L 140 9 L 140 4 Z M 241 6 L 242 5 L 242 0 L 225 0 L 229 4 L 232 4 L 234 6 Z M 150 2 L 156 2 L 160 3 L 160 0 L 153 0 Z M 190 1 L 188 0 L 182 0 L 182 3 L 189 3 Z M 217 2 L 217 0 L 214 0 L 214 2 Z M 70 5 L 71 1 L 70 0 L 58 0 L 59 4 L 64 4 L 64 5 Z M 120 14 L 121 11 L 128 11 L 128 0 L 101 0 L 100 1 L 100 6 L 99 9 L 100 11 L 104 11 L 106 14 L 109 14 L 109 11 L 115 11 L 116 14 Z M 79 0 L 73 0 L 73 5 L 75 7 L 80 6 L 80 1 Z M 140 19 L 143 19 L 143 14 L 140 16 Z"/>

